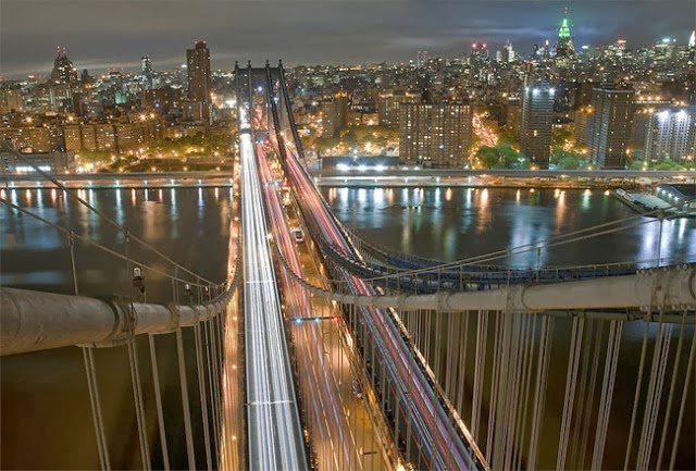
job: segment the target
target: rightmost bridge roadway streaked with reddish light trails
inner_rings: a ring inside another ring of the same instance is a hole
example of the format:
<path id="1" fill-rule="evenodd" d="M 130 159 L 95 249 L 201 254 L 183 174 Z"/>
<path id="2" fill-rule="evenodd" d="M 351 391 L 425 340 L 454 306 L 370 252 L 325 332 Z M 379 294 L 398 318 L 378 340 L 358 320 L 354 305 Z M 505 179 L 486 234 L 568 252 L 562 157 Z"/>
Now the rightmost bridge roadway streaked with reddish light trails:
<path id="1" fill-rule="evenodd" d="M 275 107 L 273 100 L 271 103 L 272 108 Z M 293 119 L 290 117 L 289 121 L 291 123 Z M 282 138 L 277 140 L 283 142 Z M 299 147 L 297 142 L 296 147 Z M 286 149 L 286 175 L 296 191 L 310 232 L 325 244 L 338 247 L 359 259 L 296 154 L 290 148 Z M 338 269 L 337 274 L 353 294 L 376 294 L 374 288 L 347 271 Z M 371 364 L 371 369 L 373 372 L 375 370 L 383 372 L 383 383 L 389 384 L 389 393 L 394 394 L 398 400 L 395 412 L 401 417 L 405 414 L 403 419 L 412 424 L 418 448 L 418 453 L 412 454 L 417 457 L 412 464 L 417 469 L 425 467 L 437 470 L 483 468 L 484 463 L 478 450 L 474 445 L 475 451 L 472 453 L 470 448 L 473 444 L 465 443 L 463 438 L 468 432 L 458 430 L 453 425 L 457 421 L 450 417 L 451 412 L 445 409 L 442 399 L 434 392 L 432 380 L 417 362 L 415 352 L 406 342 L 397 321 L 391 317 L 393 313 L 363 308 L 359 309 L 358 314 L 360 324 L 369 331 L 368 336 L 363 334 L 360 338 L 363 351 L 366 351 L 365 343 L 372 344 L 372 357 L 376 359 Z M 375 350 L 378 351 L 377 355 Z M 383 386 L 383 394 L 384 389 Z M 381 398 L 381 402 L 386 404 L 387 400 L 385 397 Z M 410 437 L 407 437 L 407 441 L 410 441 Z"/>

